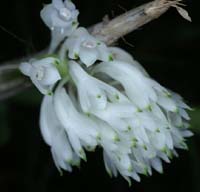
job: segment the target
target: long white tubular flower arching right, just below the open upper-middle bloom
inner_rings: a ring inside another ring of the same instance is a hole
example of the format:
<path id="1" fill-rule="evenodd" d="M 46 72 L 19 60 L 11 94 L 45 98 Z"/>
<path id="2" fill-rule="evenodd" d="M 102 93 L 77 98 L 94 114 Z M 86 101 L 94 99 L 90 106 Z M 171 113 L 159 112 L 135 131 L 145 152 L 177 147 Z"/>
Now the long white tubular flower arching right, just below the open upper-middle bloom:
<path id="1" fill-rule="evenodd" d="M 148 85 L 148 78 L 132 64 L 117 60 L 103 62 L 95 71 L 120 82 L 130 100 L 141 109 L 148 108 L 151 101 L 157 100 L 154 89 Z"/>

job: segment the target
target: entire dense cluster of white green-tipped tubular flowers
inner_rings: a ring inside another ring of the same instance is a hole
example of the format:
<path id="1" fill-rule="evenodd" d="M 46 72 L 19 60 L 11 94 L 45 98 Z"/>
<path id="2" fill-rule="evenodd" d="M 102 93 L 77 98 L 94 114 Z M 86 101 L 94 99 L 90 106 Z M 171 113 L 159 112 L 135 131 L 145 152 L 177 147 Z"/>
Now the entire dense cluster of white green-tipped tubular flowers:
<path id="1" fill-rule="evenodd" d="M 152 168 L 162 173 L 162 160 L 187 149 L 190 107 L 127 52 L 73 25 L 78 11 L 71 1 L 53 0 L 41 15 L 56 31 L 53 44 L 63 44 L 57 57 L 22 63 L 20 70 L 45 94 L 40 127 L 57 168 L 71 171 L 86 160 L 85 150 L 101 146 L 110 175 L 140 181 Z"/>

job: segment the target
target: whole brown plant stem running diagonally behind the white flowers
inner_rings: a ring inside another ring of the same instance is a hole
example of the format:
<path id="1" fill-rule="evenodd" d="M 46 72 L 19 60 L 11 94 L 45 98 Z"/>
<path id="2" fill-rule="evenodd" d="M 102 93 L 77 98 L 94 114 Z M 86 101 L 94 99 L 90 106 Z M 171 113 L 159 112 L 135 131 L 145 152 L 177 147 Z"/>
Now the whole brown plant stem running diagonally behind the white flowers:
<path id="1" fill-rule="evenodd" d="M 171 6 L 178 7 L 181 0 L 154 0 L 139 7 L 136 7 L 110 21 L 103 21 L 89 28 L 92 35 L 99 38 L 107 45 L 111 45 L 124 35 L 138 29 L 139 27 L 157 19 L 164 14 Z M 31 57 L 44 54 L 42 51 Z M 19 63 L 22 60 L 29 60 L 30 57 L 12 62 L 6 62 L 0 67 L 0 100 L 17 94 L 30 87 L 30 83 L 22 76 L 7 80 L 6 77 L 18 71 Z M 9 63 L 9 64 L 8 64 Z"/>

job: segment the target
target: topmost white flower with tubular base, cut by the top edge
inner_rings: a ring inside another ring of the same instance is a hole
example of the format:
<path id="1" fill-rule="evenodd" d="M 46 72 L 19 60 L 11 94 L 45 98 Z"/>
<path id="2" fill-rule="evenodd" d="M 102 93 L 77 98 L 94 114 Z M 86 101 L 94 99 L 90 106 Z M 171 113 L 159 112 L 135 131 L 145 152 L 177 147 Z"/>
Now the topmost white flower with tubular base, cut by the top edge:
<path id="1" fill-rule="evenodd" d="M 41 11 L 41 18 L 52 30 L 50 52 L 77 28 L 79 11 L 70 0 L 52 0 Z"/>

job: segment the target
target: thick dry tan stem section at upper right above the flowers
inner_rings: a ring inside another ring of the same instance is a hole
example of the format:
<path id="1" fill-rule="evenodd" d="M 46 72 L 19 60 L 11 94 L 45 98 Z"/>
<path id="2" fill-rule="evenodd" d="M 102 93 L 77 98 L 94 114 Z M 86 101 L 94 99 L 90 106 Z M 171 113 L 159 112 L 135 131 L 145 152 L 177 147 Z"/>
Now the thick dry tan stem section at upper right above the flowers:
<path id="1" fill-rule="evenodd" d="M 124 35 L 160 17 L 171 7 L 167 2 L 163 0 L 152 1 L 132 9 L 109 22 L 96 24 L 89 31 L 106 44 L 111 45 Z"/>

